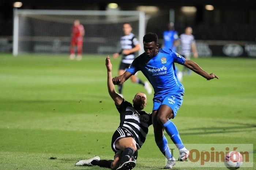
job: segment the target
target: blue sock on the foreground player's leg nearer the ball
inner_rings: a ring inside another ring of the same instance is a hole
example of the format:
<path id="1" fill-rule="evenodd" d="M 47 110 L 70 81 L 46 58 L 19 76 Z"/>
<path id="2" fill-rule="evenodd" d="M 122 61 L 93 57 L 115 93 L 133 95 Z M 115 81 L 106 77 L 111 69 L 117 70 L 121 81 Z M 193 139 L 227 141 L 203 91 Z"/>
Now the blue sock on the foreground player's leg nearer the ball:
<path id="1" fill-rule="evenodd" d="M 178 129 L 175 124 L 172 121 L 168 120 L 167 122 L 165 122 L 165 124 L 163 124 L 163 127 L 165 128 L 167 134 L 171 137 L 176 147 L 178 149 L 182 149 L 184 145 L 181 141 L 180 134 L 178 133 Z"/>

